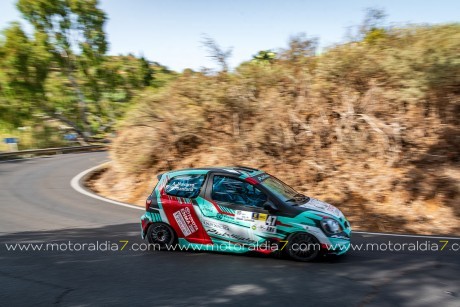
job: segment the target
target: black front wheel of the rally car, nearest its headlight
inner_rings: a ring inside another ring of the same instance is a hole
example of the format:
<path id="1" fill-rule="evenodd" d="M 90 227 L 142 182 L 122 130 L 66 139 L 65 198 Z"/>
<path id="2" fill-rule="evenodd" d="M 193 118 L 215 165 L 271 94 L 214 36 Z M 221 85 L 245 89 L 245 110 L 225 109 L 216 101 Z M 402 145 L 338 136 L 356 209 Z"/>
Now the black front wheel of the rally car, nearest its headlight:
<path id="1" fill-rule="evenodd" d="M 307 262 L 320 255 L 321 245 L 311 234 L 298 232 L 289 236 L 286 252 L 291 259 Z"/>

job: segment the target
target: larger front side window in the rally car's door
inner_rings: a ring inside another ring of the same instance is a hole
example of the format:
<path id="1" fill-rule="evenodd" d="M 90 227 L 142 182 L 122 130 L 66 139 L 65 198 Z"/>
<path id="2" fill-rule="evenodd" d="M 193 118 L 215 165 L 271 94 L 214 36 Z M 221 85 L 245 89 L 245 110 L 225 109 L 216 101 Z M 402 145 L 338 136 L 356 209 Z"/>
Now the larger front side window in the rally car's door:
<path id="1" fill-rule="evenodd" d="M 214 176 L 211 198 L 251 207 L 262 207 L 267 201 L 267 195 L 252 184 L 225 176 Z"/>

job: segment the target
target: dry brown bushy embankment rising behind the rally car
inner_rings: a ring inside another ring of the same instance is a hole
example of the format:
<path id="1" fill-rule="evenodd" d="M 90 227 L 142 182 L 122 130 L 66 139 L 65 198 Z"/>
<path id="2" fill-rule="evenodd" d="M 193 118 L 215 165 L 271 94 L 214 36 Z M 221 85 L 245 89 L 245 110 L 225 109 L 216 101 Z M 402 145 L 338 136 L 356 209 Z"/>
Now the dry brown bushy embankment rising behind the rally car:
<path id="1" fill-rule="evenodd" d="M 247 165 L 336 205 L 356 230 L 459 235 L 459 29 L 185 72 L 140 99 L 91 185 L 142 205 L 165 170 Z"/>

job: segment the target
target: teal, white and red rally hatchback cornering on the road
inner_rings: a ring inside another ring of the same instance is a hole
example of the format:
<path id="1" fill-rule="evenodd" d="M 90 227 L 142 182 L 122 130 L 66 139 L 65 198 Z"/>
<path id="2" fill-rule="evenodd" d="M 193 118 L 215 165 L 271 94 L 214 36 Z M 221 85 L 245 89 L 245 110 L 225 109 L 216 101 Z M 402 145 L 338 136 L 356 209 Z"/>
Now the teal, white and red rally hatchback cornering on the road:
<path id="1" fill-rule="evenodd" d="M 142 238 L 158 249 L 276 253 L 311 261 L 350 247 L 350 223 L 339 209 L 249 167 L 161 174 L 145 209 Z"/>

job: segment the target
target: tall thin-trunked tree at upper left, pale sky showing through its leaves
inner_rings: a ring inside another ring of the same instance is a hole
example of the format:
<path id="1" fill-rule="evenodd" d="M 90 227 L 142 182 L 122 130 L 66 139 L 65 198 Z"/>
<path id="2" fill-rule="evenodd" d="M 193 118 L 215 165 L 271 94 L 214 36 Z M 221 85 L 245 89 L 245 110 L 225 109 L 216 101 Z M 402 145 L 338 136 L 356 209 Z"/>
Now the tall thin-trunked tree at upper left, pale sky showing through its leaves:
<path id="1" fill-rule="evenodd" d="M 81 83 L 90 88 L 98 99 L 98 82 L 107 42 L 103 30 L 105 13 L 97 0 L 19 0 L 17 7 L 43 38 L 55 63 L 65 72 L 75 93 L 80 109 L 80 125 L 87 130 L 85 96 Z M 77 77 L 81 73 L 84 82 Z"/>

